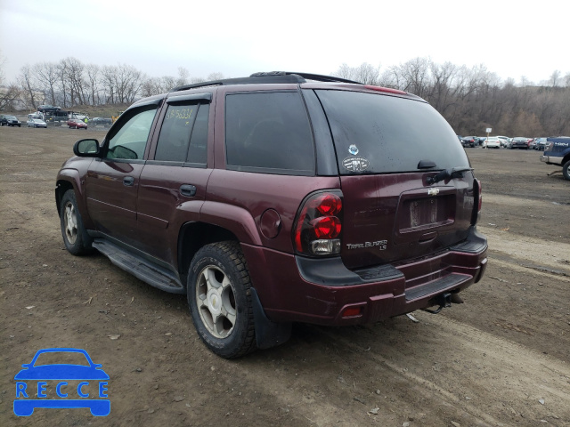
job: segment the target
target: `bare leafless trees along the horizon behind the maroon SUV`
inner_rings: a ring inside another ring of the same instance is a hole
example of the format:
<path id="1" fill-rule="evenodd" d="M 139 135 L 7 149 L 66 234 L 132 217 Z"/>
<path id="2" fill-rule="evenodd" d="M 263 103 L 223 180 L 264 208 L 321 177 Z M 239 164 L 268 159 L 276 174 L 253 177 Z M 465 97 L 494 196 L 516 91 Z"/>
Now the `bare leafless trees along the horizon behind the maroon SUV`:
<path id="1" fill-rule="evenodd" d="M 539 85 L 525 77 L 516 84 L 512 79 L 502 82 L 483 65 L 468 68 L 415 58 L 385 69 L 368 63 L 359 67 L 343 64 L 331 75 L 415 93 L 463 135 L 481 135 L 488 127 L 494 134 L 509 136 L 570 135 L 570 73 L 563 77 L 556 70 Z M 224 78 L 221 73 L 191 77 L 182 67 L 176 77 L 147 77 L 127 64 L 98 66 L 70 57 L 26 65 L 11 84 L 3 78 L 0 111 L 37 109 L 41 104 L 62 109 L 125 105 L 175 86 L 220 78 Z"/>

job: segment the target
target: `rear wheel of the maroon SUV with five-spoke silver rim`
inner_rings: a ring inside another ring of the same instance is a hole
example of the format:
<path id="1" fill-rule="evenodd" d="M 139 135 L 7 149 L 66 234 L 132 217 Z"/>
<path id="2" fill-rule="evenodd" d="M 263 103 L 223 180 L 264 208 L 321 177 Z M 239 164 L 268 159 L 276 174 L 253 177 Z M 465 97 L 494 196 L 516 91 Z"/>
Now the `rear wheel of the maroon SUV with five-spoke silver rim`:
<path id="1" fill-rule="evenodd" d="M 187 290 L 192 321 L 210 350 L 225 359 L 256 350 L 251 280 L 238 242 L 199 249 Z"/>

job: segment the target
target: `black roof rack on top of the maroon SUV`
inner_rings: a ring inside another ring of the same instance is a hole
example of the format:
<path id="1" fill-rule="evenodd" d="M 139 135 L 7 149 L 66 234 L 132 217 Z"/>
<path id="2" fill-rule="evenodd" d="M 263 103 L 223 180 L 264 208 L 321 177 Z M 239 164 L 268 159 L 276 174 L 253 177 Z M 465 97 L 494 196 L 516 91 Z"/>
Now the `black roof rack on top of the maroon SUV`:
<path id="1" fill-rule="evenodd" d="M 339 83 L 352 83 L 355 85 L 362 85 L 362 83 L 354 82 L 353 80 L 346 80 L 346 78 L 322 76 L 319 74 L 309 73 L 293 73 L 289 71 L 270 71 L 265 73 L 254 73 L 249 77 L 238 78 L 224 78 L 221 80 L 211 80 L 209 82 L 194 83 L 191 85 L 183 85 L 171 89 L 170 92 L 186 91 L 197 87 L 205 86 L 222 86 L 222 85 L 255 85 L 255 84 L 300 84 L 305 83 L 306 80 L 315 80 L 318 82 L 339 82 Z"/>

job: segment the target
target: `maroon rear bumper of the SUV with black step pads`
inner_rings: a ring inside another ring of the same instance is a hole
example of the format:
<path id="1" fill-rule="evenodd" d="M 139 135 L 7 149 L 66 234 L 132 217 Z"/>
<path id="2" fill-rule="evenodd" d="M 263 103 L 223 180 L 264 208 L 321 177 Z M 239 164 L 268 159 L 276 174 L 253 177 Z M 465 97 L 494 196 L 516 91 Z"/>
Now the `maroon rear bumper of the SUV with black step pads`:
<path id="1" fill-rule="evenodd" d="M 460 292 L 485 271 L 487 241 L 475 228 L 468 239 L 433 256 L 397 265 L 347 270 L 340 258 L 309 260 L 242 245 L 267 318 L 318 325 L 355 325 L 433 305 Z M 346 309 L 358 314 L 344 316 Z"/>

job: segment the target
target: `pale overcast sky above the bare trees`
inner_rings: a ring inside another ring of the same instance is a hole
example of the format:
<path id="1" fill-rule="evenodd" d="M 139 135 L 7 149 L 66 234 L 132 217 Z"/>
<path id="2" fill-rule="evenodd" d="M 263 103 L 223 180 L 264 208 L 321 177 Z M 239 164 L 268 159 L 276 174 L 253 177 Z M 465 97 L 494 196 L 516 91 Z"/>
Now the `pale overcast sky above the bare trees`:
<path id="1" fill-rule="evenodd" d="M 531 6 L 527 6 L 530 4 Z M 150 77 L 256 71 L 329 75 L 417 57 L 534 83 L 570 73 L 567 0 L 0 0 L 0 55 L 12 82 L 26 64 L 75 57 Z"/>

